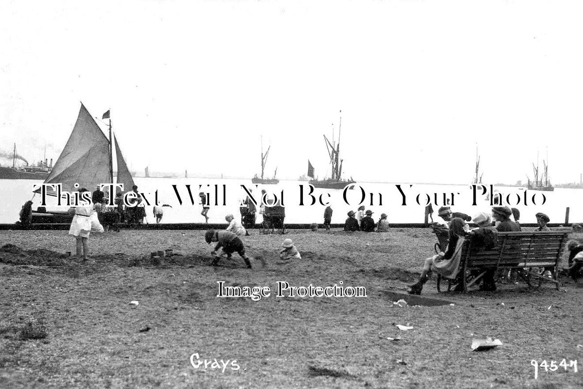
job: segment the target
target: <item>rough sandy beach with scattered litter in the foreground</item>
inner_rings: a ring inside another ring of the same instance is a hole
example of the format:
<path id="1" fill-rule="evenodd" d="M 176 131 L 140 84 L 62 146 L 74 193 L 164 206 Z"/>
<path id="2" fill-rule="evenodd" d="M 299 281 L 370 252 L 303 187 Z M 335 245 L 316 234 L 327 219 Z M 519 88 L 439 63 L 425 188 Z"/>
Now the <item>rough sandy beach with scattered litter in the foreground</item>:
<path id="1" fill-rule="evenodd" d="M 535 380 L 531 365 L 531 360 L 583 362 L 583 346 L 578 347 L 583 289 L 565 276 L 561 291 L 520 283 L 466 295 L 438 294 L 433 277 L 421 297 L 399 307 L 395 293 L 406 293 L 423 258 L 433 253 L 430 229 L 293 230 L 285 237 L 294 240 L 303 258 L 290 264 L 278 264 L 284 236 L 253 230 L 244 238 L 253 269 L 237 254 L 211 267 L 212 247 L 203 233 L 93 234 L 92 257 L 82 262 L 64 257 L 75 250 L 64 231 L 0 232 L 1 246 L 13 245 L 0 251 L 0 386 L 575 388 L 581 383 L 582 373 L 573 367 L 539 369 Z M 154 265 L 150 252 L 166 249 L 178 255 Z M 272 294 L 258 301 L 216 297 L 217 281 L 268 286 Z M 367 297 L 277 297 L 278 281 L 306 287 L 342 282 L 364 286 Z M 401 331 L 396 324 L 413 328 Z M 27 325 L 31 334 L 40 332 L 38 339 L 27 338 Z M 473 352 L 472 340 L 485 337 L 503 345 Z"/>

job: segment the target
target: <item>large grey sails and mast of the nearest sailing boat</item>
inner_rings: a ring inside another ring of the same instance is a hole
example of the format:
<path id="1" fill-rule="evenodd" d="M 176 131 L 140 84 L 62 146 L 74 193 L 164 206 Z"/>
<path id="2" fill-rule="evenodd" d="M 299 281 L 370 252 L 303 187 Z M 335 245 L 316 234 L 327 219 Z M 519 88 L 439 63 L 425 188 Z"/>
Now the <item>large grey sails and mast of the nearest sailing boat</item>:
<path id="1" fill-rule="evenodd" d="M 107 117 L 109 117 L 108 114 L 109 112 L 107 112 Z M 112 133 L 111 120 L 109 129 L 110 138 L 108 139 L 81 103 L 69 140 L 44 183 L 62 184 L 62 190 L 68 192 L 77 190 L 73 186 L 76 183 L 87 190 L 94 190 L 98 184 L 114 183 L 113 148 L 115 145 L 117 183 L 124 184 L 124 192 L 131 191 L 134 178 L 125 163 L 117 138 Z M 107 190 L 104 191 L 107 192 Z M 49 194 L 56 195 L 54 192 Z"/>

